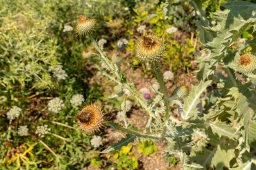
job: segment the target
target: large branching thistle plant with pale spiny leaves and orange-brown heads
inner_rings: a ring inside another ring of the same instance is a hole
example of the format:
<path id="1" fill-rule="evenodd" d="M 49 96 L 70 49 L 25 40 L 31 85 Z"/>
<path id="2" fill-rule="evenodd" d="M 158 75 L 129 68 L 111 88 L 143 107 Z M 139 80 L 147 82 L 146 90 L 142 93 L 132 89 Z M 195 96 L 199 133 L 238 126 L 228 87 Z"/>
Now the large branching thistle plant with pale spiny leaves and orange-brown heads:
<path id="1" fill-rule="evenodd" d="M 92 34 L 95 27 L 90 28 L 91 30 L 77 29 L 77 32 L 87 33 L 98 51 L 100 62 L 106 66 L 97 67 L 101 75 L 117 84 L 115 87 L 117 95 L 111 97 L 123 96 L 125 102 L 122 108 L 125 127 L 110 121 L 102 121 L 101 112 L 94 106 L 90 106 L 92 107 L 90 111 L 86 108 L 88 111 L 79 112 L 77 116 L 79 124 L 84 126 L 84 123 L 90 118 L 94 119 L 93 115 L 97 113 L 98 124 L 95 124 L 93 130 L 98 130 L 100 123 L 126 134 L 125 138 L 103 153 L 120 150 L 121 146 L 135 139 L 148 138 L 168 142 L 167 153 L 179 157 L 181 169 L 253 169 L 256 163 L 254 145 L 256 91 L 253 54 L 256 5 L 241 1 L 229 2 L 224 5 L 226 7 L 224 11 L 214 13 L 217 24 L 210 26 L 210 21 L 207 21 L 199 1 L 193 1 L 192 4 L 195 13 L 201 16 L 198 22 L 201 25 L 198 26 L 201 26 L 201 42 L 205 47 L 202 53 L 207 53 L 206 57 L 202 55 L 197 60 L 199 83 L 191 87 L 186 85 L 177 87 L 170 95 L 161 71 L 161 58 L 165 50 L 164 40 L 154 34 L 146 34 L 137 40 L 136 54 L 141 62 L 150 63 L 159 84 L 160 90 L 156 90 L 156 97 L 151 102 L 148 102 L 135 85 L 125 78 L 125 73 L 120 68 L 123 60 L 118 60 L 117 65 L 116 56 L 108 58 L 98 46 Z M 247 48 L 232 50 L 230 46 L 245 31 L 253 36 L 245 46 Z M 248 50 L 251 50 L 251 53 Z M 224 71 L 225 74 L 215 74 L 218 73 L 216 69 Z M 241 82 L 241 78 L 236 77 L 239 74 L 242 74 L 245 83 Z M 224 86 L 221 89 L 210 90 L 210 87 L 214 83 L 219 83 L 220 79 Z M 154 86 L 156 88 L 156 85 Z M 127 89 L 131 94 L 127 97 L 121 93 L 121 89 Z M 125 111 L 127 111 L 128 99 L 135 101 L 143 112 L 148 114 L 145 129 L 138 130 L 127 122 Z M 174 116 L 177 105 L 179 116 Z M 88 124 L 92 125 L 91 122 L 86 125 Z M 84 129 L 90 132 L 89 128 Z"/>

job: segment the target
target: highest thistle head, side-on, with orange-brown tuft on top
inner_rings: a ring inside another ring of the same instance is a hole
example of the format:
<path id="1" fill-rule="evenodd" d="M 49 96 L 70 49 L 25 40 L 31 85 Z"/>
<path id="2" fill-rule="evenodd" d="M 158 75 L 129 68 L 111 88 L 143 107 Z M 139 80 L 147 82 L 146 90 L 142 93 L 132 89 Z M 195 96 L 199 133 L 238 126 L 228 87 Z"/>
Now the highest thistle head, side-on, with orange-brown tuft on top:
<path id="1" fill-rule="evenodd" d="M 95 31 L 97 25 L 96 19 L 91 19 L 85 15 L 79 15 L 78 23 L 75 26 L 75 30 L 78 35 L 88 35 Z"/>

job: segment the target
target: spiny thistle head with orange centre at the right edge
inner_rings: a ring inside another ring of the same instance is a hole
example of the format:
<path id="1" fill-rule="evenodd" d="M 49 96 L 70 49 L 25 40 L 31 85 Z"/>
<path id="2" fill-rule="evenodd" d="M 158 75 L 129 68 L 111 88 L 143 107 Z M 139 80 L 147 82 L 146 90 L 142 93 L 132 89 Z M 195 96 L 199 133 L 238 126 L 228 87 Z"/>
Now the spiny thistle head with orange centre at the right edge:
<path id="1" fill-rule="evenodd" d="M 253 54 L 242 54 L 236 58 L 236 71 L 240 73 L 251 73 L 256 69 L 256 56 Z"/>

